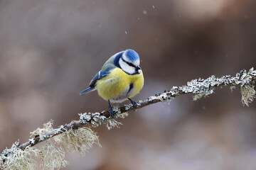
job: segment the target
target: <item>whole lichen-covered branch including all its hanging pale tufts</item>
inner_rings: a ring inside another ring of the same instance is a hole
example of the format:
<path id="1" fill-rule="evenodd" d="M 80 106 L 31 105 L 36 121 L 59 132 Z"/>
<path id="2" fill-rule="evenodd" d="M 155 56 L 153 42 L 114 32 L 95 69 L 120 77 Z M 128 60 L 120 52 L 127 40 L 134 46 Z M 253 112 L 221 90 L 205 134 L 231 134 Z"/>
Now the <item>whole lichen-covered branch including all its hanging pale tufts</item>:
<path id="1" fill-rule="evenodd" d="M 43 128 L 31 132 L 32 138 L 28 142 L 22 145 L 16 142 L 11 149 L 4 149 L 1 154 L 0 169 L 33 169 L 36 166 L 33 157 L 38 156 L 38 154 L 41 156 L 43 169 L 60 169 L 60 167 L 68 164 L 64 159 L 64 149 L 68 151 L 75 150 L 84 154 L 94 143 L 100 146 L 96 133 L 90 127 L 105 124 L 108 129 L 118 128 L 122 123 L 117 122 L 116 119 L 127 117 L 128 111 L 158 102 L 169 102 L 183 94 L 193 94 L 193 100 L 196 101 L 203 96 L 210 96 L 218 87 L 230 86 L 230 89 L 239 87 L 242 94 L 242 104 L 249 106 L 249 103 L 255 98 L 255 81 L 256 71 L 252 67 L 248 72 L 243 69 L 235 77 L 230 75 L 220 78 L 211 76 L 208 79 L 193 79 L 184 86 L 173 86 L 169 91 L 150 96 L 144 101 L 138 101 L 136 108 L 132 104 L 114 107 L 114 112 L 117 113 L 114 117 L 110 116 L 109 111 L 79 113 L 79 120 L 60 125 L 56 129 L 53 129 L 53 121 L 51 120 L 44 124 Z M 89 128 L 85 128 L 85 126 Z M 45 145 L 41 148 L 33 147 L 46 140 L 50 141 L 45 142 Z"/>

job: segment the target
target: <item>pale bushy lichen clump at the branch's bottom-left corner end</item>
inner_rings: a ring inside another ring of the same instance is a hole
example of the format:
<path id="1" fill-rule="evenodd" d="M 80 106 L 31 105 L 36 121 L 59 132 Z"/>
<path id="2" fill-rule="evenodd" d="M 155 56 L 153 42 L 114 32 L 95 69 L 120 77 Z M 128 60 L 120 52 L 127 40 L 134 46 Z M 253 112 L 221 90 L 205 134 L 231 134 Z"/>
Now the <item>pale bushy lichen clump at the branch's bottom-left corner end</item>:
<path id="1" fill-rule="evenodd" d="M 18 142 L 12 145 L 11 149 L 4 149 L 1 154 L 0 169 L 3 170 L 33 170 L 36 161 L 33 157 L 38 155 L 38 149 L 26 147 L 22 150 L 18 148 Z"/>

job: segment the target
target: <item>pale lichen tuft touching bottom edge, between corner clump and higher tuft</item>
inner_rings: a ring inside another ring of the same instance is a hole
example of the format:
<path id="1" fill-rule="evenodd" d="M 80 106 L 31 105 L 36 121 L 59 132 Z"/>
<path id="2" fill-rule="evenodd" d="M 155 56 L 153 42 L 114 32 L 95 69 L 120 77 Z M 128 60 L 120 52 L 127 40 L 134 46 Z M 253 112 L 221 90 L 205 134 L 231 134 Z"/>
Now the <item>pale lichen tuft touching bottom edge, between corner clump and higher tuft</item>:
<path id="1" fill-rule="evenodd" d="M 53 142 L 46 142 L 39 152 L 41 156 L 41 166 L 44 170 L 60 169 L 69 163 L 65 160 L 65 152 L 62 147 L 55 147 Z"/>

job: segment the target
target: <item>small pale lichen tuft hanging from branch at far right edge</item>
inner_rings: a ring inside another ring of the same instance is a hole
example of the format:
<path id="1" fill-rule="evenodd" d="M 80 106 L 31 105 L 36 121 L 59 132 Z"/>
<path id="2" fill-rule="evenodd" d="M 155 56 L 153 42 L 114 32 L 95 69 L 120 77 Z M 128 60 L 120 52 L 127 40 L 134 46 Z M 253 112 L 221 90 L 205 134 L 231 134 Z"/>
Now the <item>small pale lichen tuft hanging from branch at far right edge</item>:
<path id="1" fill-rule="evenodd" d="M 242 86 L 241 87 L 241 94 L 242 94 L 242 105 L 249 106 L 249 103 L 253 101 L 255 96 L 255 89 L 254 86 Z"/>

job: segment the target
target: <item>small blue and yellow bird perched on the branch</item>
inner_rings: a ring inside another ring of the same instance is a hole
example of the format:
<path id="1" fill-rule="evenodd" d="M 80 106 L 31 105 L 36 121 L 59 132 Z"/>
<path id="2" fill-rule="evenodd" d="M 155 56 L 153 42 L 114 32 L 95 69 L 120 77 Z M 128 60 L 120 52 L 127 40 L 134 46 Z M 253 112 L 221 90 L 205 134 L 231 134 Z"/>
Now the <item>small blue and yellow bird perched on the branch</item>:
<path id="1" fill-rule="evenodd" d="M 120 103 L 129 99 L 134 107 L 137 106 L 132 97 L 139 93 L 144 86 L 144 77 L 139 67 L 139 55 L 134 50 L 124 50 L 110 57 L 100 72 L 90 81 L 89 87 L 80 95 L 97 90 L 99 96 L 109 103 L 110 115 L 114 115 L 112 103 Z"/>

